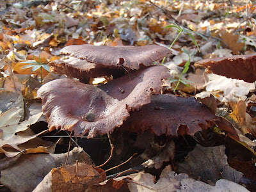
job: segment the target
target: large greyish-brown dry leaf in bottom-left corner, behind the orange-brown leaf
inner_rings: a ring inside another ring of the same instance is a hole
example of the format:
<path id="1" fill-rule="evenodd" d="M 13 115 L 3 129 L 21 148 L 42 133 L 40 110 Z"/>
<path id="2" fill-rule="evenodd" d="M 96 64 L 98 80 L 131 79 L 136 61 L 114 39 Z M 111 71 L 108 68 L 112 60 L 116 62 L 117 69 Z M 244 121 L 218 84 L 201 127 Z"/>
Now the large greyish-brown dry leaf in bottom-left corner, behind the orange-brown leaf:
<path id="1" fill-rule="evenodd" d="M 33 191 L 52 168 L 65 163 L 65 154 L 22 154 L 13 166 L 1 171 L 1 184 L 12 191 Z M 74 148 L 70 151 L 68 164 L 86 162 L 92 164 L 90 157 L 83 152 L 83 148 Z M 19 182 L 17 182 L 19 181 Z"/>

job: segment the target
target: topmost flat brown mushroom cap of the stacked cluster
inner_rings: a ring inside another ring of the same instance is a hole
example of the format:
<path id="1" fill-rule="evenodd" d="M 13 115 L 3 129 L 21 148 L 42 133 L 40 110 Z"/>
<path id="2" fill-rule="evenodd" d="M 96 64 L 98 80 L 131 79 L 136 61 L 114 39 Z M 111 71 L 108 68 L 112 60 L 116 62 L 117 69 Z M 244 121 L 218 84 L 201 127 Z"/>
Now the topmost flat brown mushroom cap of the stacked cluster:
<path id="1" fill-rule="evenodd" d="M 141 47 L 70 45 L 64 47 L 61 52 L 99 65 L 122 65 L 126 68 L 139 69 L 140 65 L 149 66 L 152 62 L 163 59 L 171 51 L 158 45 Z"/>

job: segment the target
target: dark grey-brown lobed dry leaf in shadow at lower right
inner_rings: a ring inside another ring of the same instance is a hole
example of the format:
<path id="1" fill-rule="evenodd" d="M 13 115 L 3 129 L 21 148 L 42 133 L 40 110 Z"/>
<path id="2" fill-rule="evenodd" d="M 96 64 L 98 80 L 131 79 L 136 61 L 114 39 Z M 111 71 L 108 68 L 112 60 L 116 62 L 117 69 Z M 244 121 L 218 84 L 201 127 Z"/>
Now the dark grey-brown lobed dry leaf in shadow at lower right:
<path id="1" fill-rule="evenodd" d="M 225 155 L 225 146 L 202 147 L 196 145 L 185 157 L 184 163 L 177 163 L 177 172 L 187 173 L 193 179 L 214 184 L 219 179 L 239 182 L 243 173 L 231 168 Z"/>

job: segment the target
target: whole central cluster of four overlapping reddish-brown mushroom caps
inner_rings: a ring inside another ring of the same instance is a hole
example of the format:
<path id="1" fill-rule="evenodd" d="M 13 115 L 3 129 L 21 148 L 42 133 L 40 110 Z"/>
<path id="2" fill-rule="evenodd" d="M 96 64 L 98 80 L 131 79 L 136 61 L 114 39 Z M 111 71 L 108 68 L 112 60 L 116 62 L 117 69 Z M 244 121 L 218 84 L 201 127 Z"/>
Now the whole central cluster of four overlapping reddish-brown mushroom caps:
<path id="1" fill-rule="evenodd" d="M 53 72 L 83 80 L 58 79 L 38 90 L 49 130 L 74 131 L 76 136 L 113 132 L 115 128 L 136 133 L 194 134 L 220 118 L 195 99 L 159 95 L 168 68 L 152 65 L 170 54 L 158 45 L 95 46 L 70 45 L 61 50 L 67 60 L 49 65 Z M 90 78 L 112 76 L 95 86 Z"/>

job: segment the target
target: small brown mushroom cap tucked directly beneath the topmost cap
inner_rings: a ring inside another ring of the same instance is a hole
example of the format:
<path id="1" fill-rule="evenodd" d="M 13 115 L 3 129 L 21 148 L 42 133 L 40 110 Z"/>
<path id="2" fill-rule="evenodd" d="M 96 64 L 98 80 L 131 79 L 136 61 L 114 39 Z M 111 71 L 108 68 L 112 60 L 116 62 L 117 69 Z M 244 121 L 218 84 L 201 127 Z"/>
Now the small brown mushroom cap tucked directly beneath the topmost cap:
<path id="1" fill-rule="evenodd" d="M 106 68 L 86 60 L 70 57 L 67 60 L 54 60 L 49 63 L 51 72 L 65 74 L 68 77 L 89 81 L 90 78 L 118 76 L 124 74 L 124 68 Z"/>

